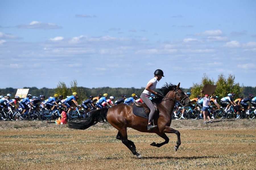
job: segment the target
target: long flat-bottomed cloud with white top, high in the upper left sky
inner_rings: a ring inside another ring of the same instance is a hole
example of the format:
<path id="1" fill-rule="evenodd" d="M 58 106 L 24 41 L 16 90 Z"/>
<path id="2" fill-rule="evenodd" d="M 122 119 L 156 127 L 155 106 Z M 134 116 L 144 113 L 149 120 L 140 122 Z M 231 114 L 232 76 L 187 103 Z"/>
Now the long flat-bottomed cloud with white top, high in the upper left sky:
<path id="1" fill-rule="evenodd" d="M 62 27 L 53 23 L 43 23 L 38 21 L 32 21 L 29 24 L 17 25 L 17 28 L 27 29 L 61 29 Z"/>

